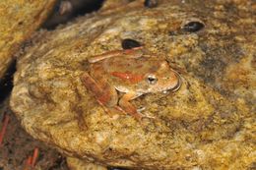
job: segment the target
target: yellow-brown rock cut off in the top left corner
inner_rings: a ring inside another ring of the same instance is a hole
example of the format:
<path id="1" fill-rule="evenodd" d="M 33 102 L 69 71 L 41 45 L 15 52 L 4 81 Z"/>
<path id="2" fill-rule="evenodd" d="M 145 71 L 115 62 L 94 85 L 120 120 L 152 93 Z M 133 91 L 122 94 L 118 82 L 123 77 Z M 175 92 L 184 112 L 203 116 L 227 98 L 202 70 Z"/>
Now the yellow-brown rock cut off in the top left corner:
<path id="1" fill-rule="evenodd" d="M 0 79 L 23 41 L 40 26 L 56 0 L 0 1 Z"/>

